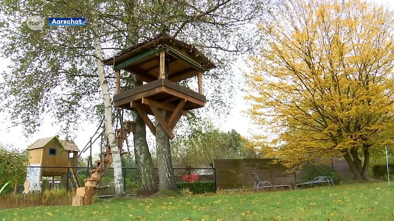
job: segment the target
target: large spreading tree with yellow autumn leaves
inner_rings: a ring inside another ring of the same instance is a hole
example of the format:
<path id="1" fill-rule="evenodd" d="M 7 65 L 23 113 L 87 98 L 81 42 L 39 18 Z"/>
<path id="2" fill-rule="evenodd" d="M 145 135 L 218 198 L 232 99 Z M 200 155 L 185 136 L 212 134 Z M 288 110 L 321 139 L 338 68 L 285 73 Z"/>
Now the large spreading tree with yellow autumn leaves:
<path id="1" fill-rule="evenodd" d="M 280 9 L 259 25 L 262 51 L 247 74 L 248 113 L 277 135 L 267 145 L 257 134 L 256 145 L 286 166 L 342 156 L 365 180 L 371 149 L 394 135 L 393 11 L 363 0 Z"/>

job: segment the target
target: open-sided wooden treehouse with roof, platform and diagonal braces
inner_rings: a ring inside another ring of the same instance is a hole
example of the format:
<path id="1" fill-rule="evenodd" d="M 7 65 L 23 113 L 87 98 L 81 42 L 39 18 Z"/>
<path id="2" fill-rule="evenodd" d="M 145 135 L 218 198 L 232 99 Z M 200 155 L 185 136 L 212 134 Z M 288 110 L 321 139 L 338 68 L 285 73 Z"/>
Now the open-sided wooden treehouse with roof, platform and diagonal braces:
<path id="1" fill-rule="evenodd" d="M 156 134 L 156 128 L 148 117 L 154 115 L 168 138 L 174 138 L 172 130 L 187 111 L 205 106 L 202 94 L 202 73 L 215 65 L 192 45 L 169 38 L 158 37 L 143 42 L 119 55 L 104 61 L 116 71 L 116 107 L 138 111 L 146 125 Z M 130 90 L 121 91 L 121 71 L 131 72 L 145 82 Z M 181 86 L 178 82 L 197 76 L 198 92 Z M 160 110 L 167 111 L 166 118 Z"/>

